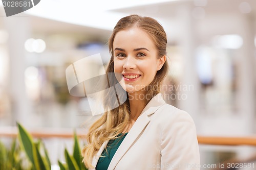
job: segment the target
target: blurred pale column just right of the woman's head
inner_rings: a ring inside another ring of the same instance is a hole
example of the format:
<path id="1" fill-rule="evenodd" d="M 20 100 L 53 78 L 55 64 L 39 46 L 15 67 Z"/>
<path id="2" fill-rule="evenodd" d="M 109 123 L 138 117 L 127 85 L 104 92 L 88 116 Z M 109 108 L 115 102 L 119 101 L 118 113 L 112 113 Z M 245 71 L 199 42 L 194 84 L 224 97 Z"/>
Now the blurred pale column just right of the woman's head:
<path id="1" fill-rule="evenodd" d="M 183 4 L 179 8 L 180 42 L 183 61 L 183 75 L 181 78 L 183 98 L 178 101 L 179 108 L 187 111 L 199 126 L 199 81 L 196 72 L 195 48 L 197 47 L 195 19 L 191 15 L 193 4 Z M 186 88 L 187 87 L 187 88 Z M 187 90 L 186 90 L 187 89 Z"/>

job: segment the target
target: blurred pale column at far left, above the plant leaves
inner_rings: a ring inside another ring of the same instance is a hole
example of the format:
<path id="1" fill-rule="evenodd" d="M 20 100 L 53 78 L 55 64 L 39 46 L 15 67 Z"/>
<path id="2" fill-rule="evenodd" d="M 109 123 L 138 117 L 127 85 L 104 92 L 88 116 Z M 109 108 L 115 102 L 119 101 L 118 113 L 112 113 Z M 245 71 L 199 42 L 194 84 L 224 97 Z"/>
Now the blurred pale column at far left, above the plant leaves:
<path id="1" fill-rule="evenodd" d="M 26 94 L 25 75 L 26 56 L 24 43 L 29 38 L 29 16 L 4 18 L 4 26 L 9 33 L 9 95 L 11 98 L 12 126 L 16 122 L 31 124 L 31 104 Z"/>

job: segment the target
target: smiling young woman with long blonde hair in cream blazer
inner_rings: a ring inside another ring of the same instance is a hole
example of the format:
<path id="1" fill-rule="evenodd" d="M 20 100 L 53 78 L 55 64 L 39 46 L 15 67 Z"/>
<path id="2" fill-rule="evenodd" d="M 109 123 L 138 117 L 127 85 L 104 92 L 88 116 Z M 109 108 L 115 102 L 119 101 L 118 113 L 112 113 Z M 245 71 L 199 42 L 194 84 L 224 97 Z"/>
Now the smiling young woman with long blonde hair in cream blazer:
<path id="1" fill-rule="evenodd" d="M 165 31 L 153 18 L 130 15 L 117 22 L 106 72 L 114 72 L 109 83 L 119 82 L 127 100 L 89 129 L 82 150 L 89 169 L 200 169 L 193 120 L 159 93 L 168 71 L 166 44 Z M 114 97 L 105 95 L 105 107 Z"/>

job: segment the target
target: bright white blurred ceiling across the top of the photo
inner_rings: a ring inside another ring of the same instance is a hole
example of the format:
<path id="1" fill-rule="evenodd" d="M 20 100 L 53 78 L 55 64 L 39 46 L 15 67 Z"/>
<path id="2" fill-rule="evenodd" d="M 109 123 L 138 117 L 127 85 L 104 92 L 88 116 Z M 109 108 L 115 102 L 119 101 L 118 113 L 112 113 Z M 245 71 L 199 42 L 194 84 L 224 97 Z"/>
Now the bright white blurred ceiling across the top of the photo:
<path id="1" fill-rule="evenodd" d="M 193 10 L 196 7 L 195 2 L 207 2 L 202 7 L 205 17 L 194 20 L 197 31 L 206 37 L 213 32 L 238 32 L 242 27 L 238 27 L 237 16 L 256 18 L 255 0 L 42 0 L 34 8 L 12 17 L 29 16 L 35 33 L 82 33 L 87 37 L 107 39 L 118 19 L 136 13 L 156 18 L 175 39 L 180 34 L 180 10 L 185 6 L 188 6 L 188 10 Z M 249 14 L 242 14 L 239 10 L 242 2 L 250 5 Z M 8 19 L 4 16 L 1 5 L 0 29 L 3 19 Z M 255 24 L 255 19 L 252 21 Z"/>

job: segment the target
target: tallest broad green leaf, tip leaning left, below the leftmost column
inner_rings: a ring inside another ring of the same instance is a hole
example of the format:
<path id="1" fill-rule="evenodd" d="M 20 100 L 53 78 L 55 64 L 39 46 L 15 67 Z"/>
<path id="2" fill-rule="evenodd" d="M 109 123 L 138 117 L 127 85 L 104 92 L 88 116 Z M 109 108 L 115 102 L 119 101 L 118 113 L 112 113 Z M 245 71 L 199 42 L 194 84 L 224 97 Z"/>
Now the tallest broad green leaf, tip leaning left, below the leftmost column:
<path id="1" fill-rule="evenodd" d="M 33 164 L 35 169 L 40 169 L 38 164 L 38 158 L 36 154 L 35 144 L 33 142 L 32 136 L 25 130 L 25 128 L 17 123 L 18 125 L 18 139 L 20 145 L 24 148 L 29 160 Z"/>

